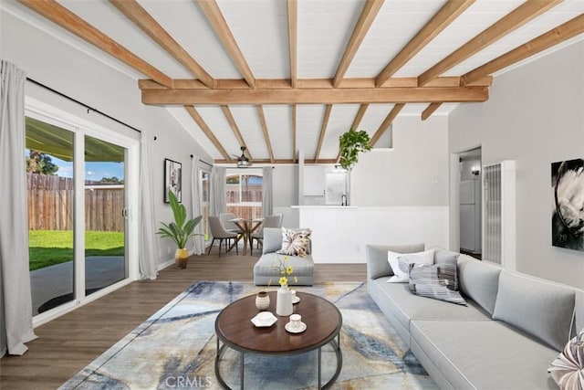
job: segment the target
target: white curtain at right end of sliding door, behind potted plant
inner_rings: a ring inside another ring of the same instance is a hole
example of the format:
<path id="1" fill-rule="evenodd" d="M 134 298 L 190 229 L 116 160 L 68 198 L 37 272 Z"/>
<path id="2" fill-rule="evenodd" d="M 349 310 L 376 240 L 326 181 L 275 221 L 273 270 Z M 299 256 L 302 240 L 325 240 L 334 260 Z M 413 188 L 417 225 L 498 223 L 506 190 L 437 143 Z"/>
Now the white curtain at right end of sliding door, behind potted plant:
<path id="1" fill-rule="evenodd" d="M 140 142 L 140 194 L 141 194 L 141 232 L 140 232 L 140 278 L 156 279 L 156 258 L 158 256 L 158 237 L 154 215 L 154 184 L 152 183 L 152 140 L 142 133 Z"/>

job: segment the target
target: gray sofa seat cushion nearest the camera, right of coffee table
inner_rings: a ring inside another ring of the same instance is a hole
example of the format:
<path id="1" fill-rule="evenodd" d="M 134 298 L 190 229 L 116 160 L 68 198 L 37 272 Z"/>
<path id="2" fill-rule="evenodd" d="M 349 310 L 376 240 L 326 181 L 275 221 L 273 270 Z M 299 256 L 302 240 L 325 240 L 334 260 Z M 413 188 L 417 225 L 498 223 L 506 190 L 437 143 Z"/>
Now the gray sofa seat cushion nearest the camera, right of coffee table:
<path id="1" fill-rule="evenodd" d="M 457 307 L 451 305 L 453 307 Z M 558 352 L 501 321 L 412 321 L 412 353 L 454 389 L 557 388 Z"/>

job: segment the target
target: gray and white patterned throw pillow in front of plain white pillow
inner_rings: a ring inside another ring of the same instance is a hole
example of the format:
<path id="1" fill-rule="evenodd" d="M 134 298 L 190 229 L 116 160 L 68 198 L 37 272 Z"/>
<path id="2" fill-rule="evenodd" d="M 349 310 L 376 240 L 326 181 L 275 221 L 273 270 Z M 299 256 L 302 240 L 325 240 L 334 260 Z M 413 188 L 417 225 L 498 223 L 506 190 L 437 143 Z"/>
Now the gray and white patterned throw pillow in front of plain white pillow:
<path id="1" fill-rule="evenodd" d="M 410 291 L 413 294 L 466 306 L 466 300 L 455 290 L 457 279 L 454 264 L 410 265 Z"/>

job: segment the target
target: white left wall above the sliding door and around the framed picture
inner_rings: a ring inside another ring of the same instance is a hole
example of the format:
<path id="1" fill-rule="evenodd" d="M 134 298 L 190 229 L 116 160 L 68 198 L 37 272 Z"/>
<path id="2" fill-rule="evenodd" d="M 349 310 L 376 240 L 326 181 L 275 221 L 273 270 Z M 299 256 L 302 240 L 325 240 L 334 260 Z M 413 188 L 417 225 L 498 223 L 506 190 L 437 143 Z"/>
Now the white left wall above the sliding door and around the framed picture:
<path id="1" fill-rule="evenodd" d="M 155 185 L 154 204 L 157 221 L 172 219 L 170 206 L 163 203 L 163 160 L 170 158 L 183 163 L 183 204 L 190 212 L 191 154 L 203 160 L 211 158 L 183 131 L 183 128 L 164 108 L 145 106 L 136 79 L 128 73 L 106 66 L 77 48 L 64 44 L 56 37 L 47 35 L 36 26 L 30 26 L 20 18 L 0 10 L 0 57 L 16 64 L 26 75 L 48 87 L 79 100 L 111 117 L 141 130 L 144 137 L 157 137 L 154 142 L 152 178 Z M 123 65 L 120 65 L 123 68 Z M 42 90 L 30 83 L 26 85 L 29 96 L 42 100 L 78 116 L 90 116 L 116 132 L 128 132 L 123 126 L 90 112 L 58 95 Z M 89 119 L 89 118 L 88 118 Z M 159 191 L 160 189 L 160 191 Z M 172 248 L 168 255 L 167 248 Z M 173 244 L 161 240 L 161 253 L 157 263 L 172 258 Z"/>

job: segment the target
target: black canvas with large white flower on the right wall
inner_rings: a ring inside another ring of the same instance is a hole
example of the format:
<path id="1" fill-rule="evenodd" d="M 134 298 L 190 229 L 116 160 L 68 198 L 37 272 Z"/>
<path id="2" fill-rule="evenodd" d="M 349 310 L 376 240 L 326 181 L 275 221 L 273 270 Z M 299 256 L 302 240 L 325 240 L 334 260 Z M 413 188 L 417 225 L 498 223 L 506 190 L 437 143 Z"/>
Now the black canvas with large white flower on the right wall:
<path id="1" fill-rule="evenodd" d="M 584 159 L 551 164 L 552 245 L 584 251 Z"/>

